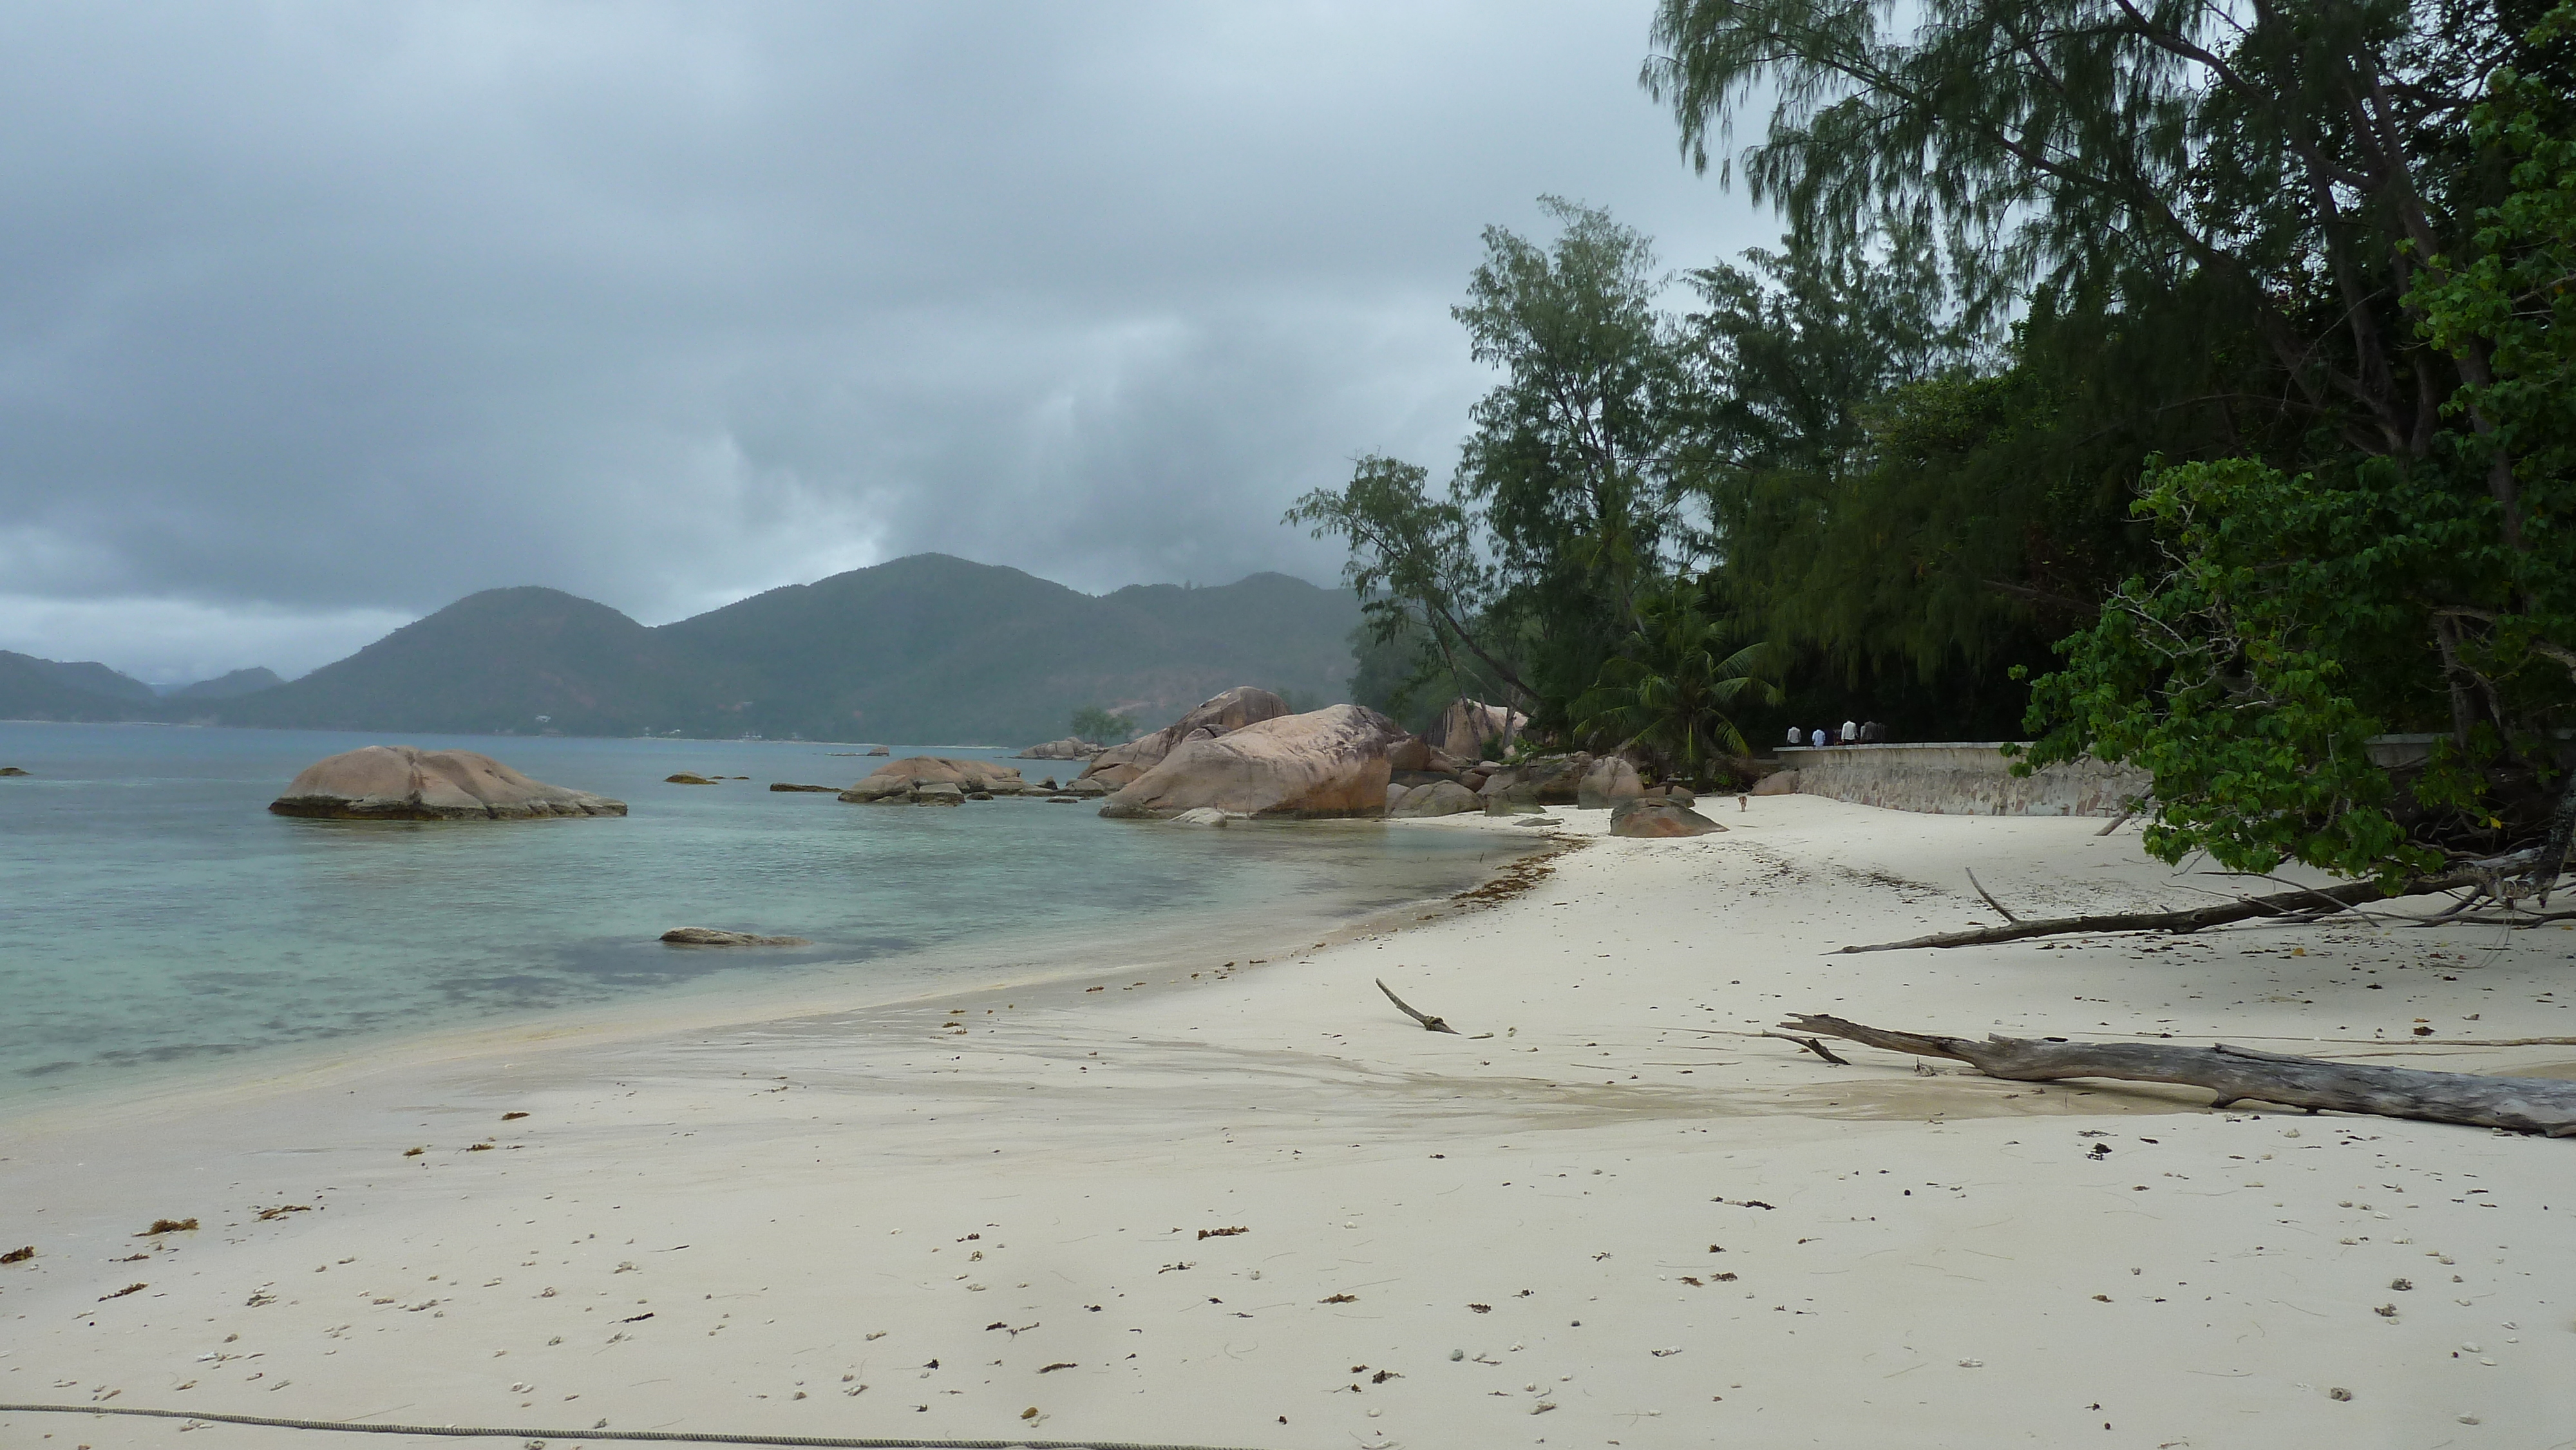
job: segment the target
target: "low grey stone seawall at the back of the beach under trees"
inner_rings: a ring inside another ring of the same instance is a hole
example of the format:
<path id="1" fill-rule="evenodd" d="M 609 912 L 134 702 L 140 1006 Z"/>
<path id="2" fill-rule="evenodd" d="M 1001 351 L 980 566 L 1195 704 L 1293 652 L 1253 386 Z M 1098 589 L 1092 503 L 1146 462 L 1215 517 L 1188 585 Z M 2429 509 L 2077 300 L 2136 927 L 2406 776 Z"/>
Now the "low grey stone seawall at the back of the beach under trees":
<path id="1" fill-rule="evenodd" d="M 2117 816 L 2146 770 L 2079 760 L 2012 775 L 2004 742 L 1783 747 L 1798 793 L 1935 816 Z"/>

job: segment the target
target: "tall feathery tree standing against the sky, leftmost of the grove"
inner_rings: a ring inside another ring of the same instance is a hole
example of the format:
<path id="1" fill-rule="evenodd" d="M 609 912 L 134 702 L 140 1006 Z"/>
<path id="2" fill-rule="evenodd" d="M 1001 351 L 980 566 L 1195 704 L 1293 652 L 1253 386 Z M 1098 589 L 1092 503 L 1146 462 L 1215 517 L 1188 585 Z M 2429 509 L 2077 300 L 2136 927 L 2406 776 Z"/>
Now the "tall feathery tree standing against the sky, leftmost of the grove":
<path id="1" fill-rule="evenodd" d="M 1636 628 L 1636 600 L 1672 572 L 1700 394 L 1656 309 L 1649 242 L 1605 211 L 1543 206 L 1558 237 L 1489 227 L 1450 309 L 1502 381 L 1471 412 L 1448 492 L 1432 497 L 1419 464 L 1365 456 L 1285 523 L 1350 543 L 1342 577 L 1373 636 L 1419 636 L 1425 677 L 1484 685 L 1564 729 Z"/>

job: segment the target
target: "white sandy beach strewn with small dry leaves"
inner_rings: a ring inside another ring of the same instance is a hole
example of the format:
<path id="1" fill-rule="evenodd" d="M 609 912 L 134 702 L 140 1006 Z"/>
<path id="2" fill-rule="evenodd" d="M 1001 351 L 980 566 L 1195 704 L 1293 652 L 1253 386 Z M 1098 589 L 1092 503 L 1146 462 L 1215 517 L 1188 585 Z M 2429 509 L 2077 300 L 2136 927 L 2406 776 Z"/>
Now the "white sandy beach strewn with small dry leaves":
<path id="1" fill-rule="evenodd" d="M 0 1401 L 1244 1450 L 2576 1445 L 2576 1144 L 1728 1035 L 1837 1012 L 2571 1077 L 2576 1048 L 2439 1043 L 2576 1035 L 2576 932 L 1824 956 L 1991 922 L 1963 868 L 2032 909 L 2228 883 L 2089 819 L 1710 811 L 1728 834 L 1597 840 L 1497 907 L 1231 971 L 23 1118 Z M 0 1445 L 358 1442 L 183 1424 L 0 1414 Z"/>

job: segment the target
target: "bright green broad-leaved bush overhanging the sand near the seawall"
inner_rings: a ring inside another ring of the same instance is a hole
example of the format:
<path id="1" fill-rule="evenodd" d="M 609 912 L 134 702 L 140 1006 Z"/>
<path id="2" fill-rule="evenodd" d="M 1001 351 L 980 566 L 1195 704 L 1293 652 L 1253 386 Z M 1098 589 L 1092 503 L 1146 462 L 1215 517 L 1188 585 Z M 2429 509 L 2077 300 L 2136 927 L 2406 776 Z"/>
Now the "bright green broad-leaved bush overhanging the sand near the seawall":
<path id="1" fill-rule="evenodd" d="M 2125 582 L 2066 641 L 2066 667 L 2032 690 L 2032 724 L 2053 729 L 2027 765 L 2146 767 L 2159 860 L 2205 850 L 2231 871 L 2298 860 L 2388 878 L 2432 865 L 2391 816 L 2365 742 L 2439 708 L 2419 688 L 2419 598 L 2478 510 L 2388 464 L 2329 482 L 2231 458 L 2154 474 L 2138 513 L 2169 567 Z M 2442 804 L 2463 791 L 2450 767 L 2419 786 Z"/>

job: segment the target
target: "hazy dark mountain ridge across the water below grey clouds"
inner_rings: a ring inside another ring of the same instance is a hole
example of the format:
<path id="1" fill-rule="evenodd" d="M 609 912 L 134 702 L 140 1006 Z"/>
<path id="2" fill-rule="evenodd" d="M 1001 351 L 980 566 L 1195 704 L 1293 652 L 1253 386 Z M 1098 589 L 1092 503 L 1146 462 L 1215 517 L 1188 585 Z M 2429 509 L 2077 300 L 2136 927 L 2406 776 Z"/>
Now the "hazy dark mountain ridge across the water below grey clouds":
<path id="1" fill-rule="evenodd" d="M 1028 744 L 1061 737 L 1082 706 L 1159 721 L 1229 685 L 1340 698 L 1358 623 L 1350 592 L 1285 574 L 1095 598 L 912 554 L 659 628 L 562 590 L 484 590 L 301 680 L 229 698 L 211 688 L 247 672 L 152 701 L 59 675 L 106 667 L 0 657 L 0 716 Z"/>

